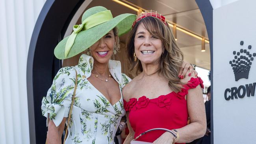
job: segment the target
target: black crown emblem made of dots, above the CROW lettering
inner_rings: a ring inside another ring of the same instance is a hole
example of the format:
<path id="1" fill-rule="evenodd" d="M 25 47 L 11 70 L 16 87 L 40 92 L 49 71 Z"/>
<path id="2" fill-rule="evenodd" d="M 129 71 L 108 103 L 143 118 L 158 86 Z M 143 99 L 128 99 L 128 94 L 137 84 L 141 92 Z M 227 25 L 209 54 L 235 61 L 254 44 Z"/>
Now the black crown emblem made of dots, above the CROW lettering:
<path id="1" fill-rule="evenodd" d="M 240 45 L 243 46 L 243 41 L 240 42 Z M 248 79 L 250 66 L 252 65 L 252 61 L 256 56 L 256 53 L 250 54 L 249 50 L 251 48 L 252 46 L 249 45 L 248 50 L 241 48 L 240 52 L 233 52 L 235 57 L 232 61 L 229 61 L 229 63 L 233 69 L 236 81 L 241 78 Z"/>

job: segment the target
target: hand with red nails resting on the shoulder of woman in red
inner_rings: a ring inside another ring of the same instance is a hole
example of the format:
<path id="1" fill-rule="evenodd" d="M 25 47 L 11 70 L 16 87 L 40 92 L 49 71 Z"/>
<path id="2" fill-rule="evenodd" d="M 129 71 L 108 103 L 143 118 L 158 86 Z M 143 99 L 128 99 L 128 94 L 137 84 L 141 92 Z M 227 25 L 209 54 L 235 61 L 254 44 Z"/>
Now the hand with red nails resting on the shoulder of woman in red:
<path id="1" fill-rule="evenodd" d="M 181 65 L 181 68 L 180 68 L 180 72 L 179 72 L 179 78 L 180 79 L 184 79 L 186 74 L 188 73 L 188 76 L 191 76 L 192 73 L 195 74 L 195 76 L 197 76 L 197 71 L 195 71 L 193 69 L 193 66 L 190 65 L 190 63 L 186 62 L 186 61 L 183 61 L 182 65 Z"/>

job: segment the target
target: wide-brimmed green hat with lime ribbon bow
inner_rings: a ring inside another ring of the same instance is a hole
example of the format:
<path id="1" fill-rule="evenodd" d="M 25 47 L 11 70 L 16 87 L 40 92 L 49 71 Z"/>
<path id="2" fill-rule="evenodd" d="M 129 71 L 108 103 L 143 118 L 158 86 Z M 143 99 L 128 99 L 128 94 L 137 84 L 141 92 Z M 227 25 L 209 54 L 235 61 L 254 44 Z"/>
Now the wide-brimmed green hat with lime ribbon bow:
<path id="1" fill-rule="evenodd" d="M 58 59 L 67 59 L 80 54 L 110 30 L 117 27 L 119 36 L 132 28 L 136 15 L 125 13 L 113 18 L 111 12 L 102 6 L 87 9 L 82 16 L 82 24 L 74 25 L 73 32 L 58 43 L 54 55 Z"/>

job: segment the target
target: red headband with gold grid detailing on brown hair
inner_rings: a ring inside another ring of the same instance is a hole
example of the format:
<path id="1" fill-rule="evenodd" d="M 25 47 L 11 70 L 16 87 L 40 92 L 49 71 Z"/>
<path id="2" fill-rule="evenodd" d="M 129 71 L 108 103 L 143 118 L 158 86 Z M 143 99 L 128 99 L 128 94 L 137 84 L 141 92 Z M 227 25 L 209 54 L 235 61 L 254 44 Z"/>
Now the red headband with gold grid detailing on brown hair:
<path id="1" fill-rule="evenodd" d="M 141 20 L 142 18 L 145 17 L 156 17 L 158 19 L 160 19 L 164 24 L 167 25 L 167 22 L 165 21 L 165 17 L 162 16 L 160 13 L 158 13 L 157 11 L 152 11 L 152 10 L 147 10 L 145 12 L 140 13 L 139 15 L 137 15 L 136 20 L 134 21 L 134 23 L 132 24 L 132 27 L 135 26 L 135 24 Z M 167 25 L 168 26 L 168 25 Z"/>

